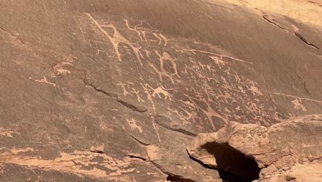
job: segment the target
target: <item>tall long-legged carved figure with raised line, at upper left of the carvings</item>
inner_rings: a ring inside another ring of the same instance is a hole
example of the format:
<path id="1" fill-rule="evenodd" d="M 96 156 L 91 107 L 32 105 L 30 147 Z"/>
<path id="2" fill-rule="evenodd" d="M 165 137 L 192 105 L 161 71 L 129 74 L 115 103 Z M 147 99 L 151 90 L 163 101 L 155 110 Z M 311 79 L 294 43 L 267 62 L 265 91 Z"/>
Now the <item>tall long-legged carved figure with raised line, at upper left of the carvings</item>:
<path id="1" fill-rule="evenodd" d="M 132 48 L 132 50 L 134 51 L 134 53 L 136 54 L 136 57 L 140 63 L 140 65 L 142 66 L 142 61 L 141 61 L 141 58 L 140 57 L 143 57 L 142 56 L 142 53 L 140 52 L 140 50 L 136 47 L 134 47 L 134 45 L 129 42 L 127 39 L 125 39 L 125 37 L 123 37 L 119 32 L 118 30 L 116 30 L 115 26 L 112 25 L 112 24 L 109 24 L 108 26 L 100 26 L 100 24 L 92 17 L 91 14 L 89 13 L 85 13 L 90 19 L 92 19 L 92 21 L 95 23 L 95 25 L 98 27 L 98 29 L 103 32 L 103 34 L 105 34 L 105 36 L 109 39 L 109 41 L 111 41 L 111 43 L 113 44 L 114 46 L 114 50 L 116 52 L 116 54 L 118 55 L 118 60 L 119 61 L 122 61 L 121 57 L 120 57 L 120 52 L 118 51 L 118 44 L 119 43 L 125 43 L 127 45 L 129 45 L 129 47 Z M 113 28 L 114 30 L 114 36 L 111 37 L 104 29 L 103 27 L 107 27 L 107 28 Z"/>

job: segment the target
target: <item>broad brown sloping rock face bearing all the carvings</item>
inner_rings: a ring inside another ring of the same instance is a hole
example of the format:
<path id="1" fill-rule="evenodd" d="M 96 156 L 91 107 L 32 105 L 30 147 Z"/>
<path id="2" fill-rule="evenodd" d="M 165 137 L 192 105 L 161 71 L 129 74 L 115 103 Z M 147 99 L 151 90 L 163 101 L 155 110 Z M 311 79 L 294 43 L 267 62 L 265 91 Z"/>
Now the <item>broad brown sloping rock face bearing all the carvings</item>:
<path id="1" fill-rule="evenodd" d="M 200 0 L 0 11 L 0 181 L 235 181 L 189 157 L 194 136 L 322 113 L 321 28 L 301 19 Z"/>

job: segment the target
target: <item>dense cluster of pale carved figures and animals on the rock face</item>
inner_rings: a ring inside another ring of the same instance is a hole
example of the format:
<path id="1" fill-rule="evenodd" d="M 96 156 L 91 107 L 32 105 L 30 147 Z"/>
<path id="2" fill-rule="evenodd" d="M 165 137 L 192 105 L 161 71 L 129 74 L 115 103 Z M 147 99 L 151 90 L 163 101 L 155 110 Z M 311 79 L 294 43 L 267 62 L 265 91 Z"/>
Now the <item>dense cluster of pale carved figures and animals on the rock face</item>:
<path id="1" fill-rule="evenodd" d="M 168 42 L 167 35 L 152 28 L 147 21 L 135 25 L 124 19 L 125 23 L 118 23 L 116 28 L 112 21 L 102 21 L 92 14 L 85 16 L 102 39 L 89 41 L 97 49 L 96 54 L 103 52 L 98 43 L 111 43 L 115 53 L 109 52 L 109 57 L 122 62 L 116 67 L 124 77 L 117 83 L 123 100 L 153 112 L 167 113 L 171 124 L 186 130 L 214 131 L 228 121 L 270 125 L 268 121 L 274 123 L 279 119 L 275 106 L 256 81 L 238 71 L 241 66 L 255 72 L 252 62 L 217 48 L 211 50 L 210 45 L 202 43 L 195 43 L 198 49 L 178 47 L 182 44 L 180 40 Z M 158 38 L 158 47 L 151 45 L 147 34 Z M 133 52 L 134 60 L 127 52 Z M 133 67 L 134 61 L 140 67 Z"/>

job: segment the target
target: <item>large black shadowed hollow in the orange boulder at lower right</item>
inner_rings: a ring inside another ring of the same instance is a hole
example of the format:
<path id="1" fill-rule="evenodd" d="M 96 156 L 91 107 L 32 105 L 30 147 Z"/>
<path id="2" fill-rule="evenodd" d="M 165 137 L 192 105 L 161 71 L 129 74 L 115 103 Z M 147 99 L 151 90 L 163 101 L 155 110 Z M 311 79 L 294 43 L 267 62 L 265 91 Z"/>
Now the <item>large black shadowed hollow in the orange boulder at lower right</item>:
<path id="1" fill-rule="evenodd" d="M 253 181 L 259 179 L 260 168 L 255 161 L 245 154 L 230 147 L 227 143 L 211 142 L 202 145 L 209 154 L 213 154 L 217 168 L 242 179 Z"/>

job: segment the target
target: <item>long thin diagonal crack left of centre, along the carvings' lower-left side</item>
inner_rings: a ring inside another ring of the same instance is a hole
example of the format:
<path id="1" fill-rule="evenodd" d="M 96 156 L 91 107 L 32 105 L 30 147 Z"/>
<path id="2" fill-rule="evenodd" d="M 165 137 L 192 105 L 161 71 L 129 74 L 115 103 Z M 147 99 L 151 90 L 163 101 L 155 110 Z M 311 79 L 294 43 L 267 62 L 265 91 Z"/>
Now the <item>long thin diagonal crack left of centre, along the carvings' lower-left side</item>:
<path id="1" fill-rule="evenodd" d="M 103 94 L 105 94 L 107 97 L 111 97 L 111 98 L 114 98 L 116 99 L 116 101 L 118 101 L 118 103 L 124 105 L 125 107 L 133 110 L 133 111 L 136 111 L 136 112 L 147 112 L 147 109 L 146 108 L 141 108 L 141 107 L 136 107 L 136 105 L 133 105 L 131 103 L 127 103 L 126 101 L 122 101 L 119 97 L 118 97 L 118 94 L 114 94 L 114 93 L 110 93 L 110 92 L 106 92 L 105 90 L 102 90 L 100 88 L 98 88 L 96 85 L 94 85 L 93 83 L 90 83 L 88 81 L 88 78 L 87 78 L 87 73 L 85 74 L 85 77 L 83 78 L 83 83 L 85 85 L 89 85 L 90 87 L 94 88 L 94 90 L 96 90 L 97 92 L 101 92 Z"/>

